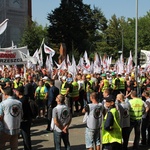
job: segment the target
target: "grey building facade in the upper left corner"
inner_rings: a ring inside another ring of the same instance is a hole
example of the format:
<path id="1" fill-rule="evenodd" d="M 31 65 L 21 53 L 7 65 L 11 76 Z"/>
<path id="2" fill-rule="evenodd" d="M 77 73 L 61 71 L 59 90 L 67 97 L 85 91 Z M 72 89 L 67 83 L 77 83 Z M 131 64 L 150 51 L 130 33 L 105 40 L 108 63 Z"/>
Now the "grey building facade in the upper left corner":
<path id="1" fill-rule="evenodd" d="M 0 23 L 8 20 L 5 32 L 0 35 L 0 46 L 20 43 L 24 28 L 31 19 L 31 0 L 0 0 Z"/>

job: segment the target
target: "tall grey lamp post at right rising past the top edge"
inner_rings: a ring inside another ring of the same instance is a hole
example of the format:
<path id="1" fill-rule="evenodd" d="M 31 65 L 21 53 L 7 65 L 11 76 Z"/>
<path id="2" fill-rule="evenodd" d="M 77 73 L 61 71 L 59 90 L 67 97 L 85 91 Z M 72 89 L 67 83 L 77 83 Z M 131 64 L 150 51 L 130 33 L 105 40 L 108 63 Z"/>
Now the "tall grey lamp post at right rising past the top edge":
<path id="1" fill-rule="evenodd" d="M 136 0 L 136 20 L 135 20 L 135 79 L 137 82 L 137 47 L 138 47 L 138 0 Z"/>

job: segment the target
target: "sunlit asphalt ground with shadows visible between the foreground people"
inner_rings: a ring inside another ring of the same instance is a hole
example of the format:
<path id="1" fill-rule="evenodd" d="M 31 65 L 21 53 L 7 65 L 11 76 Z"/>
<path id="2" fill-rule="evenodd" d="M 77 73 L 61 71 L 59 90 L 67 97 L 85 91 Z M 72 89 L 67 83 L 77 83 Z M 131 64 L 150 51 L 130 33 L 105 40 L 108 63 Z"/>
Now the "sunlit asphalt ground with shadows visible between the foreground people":
<path id="1" fill-rule="evenodd" d="M 73 117 L 69 130 L 71 150 L 86 150 L 85 124 L 83 116 Z M 31 127 L 32 150 L 54 150 L 53 133 L 45 132 L 46 119 L 37 119 Z M 134 133 L 130 135 L 129 150 L 132 149 Z M 62 142 L 63 147 L 63 142 Z M 22 138 L 19 138 L 19 150 L 23 150 Z M 62 148 L 64 150 L 64 148 Z M 150 150 L 150 147 L 140 147 L 140 150 Z"/>

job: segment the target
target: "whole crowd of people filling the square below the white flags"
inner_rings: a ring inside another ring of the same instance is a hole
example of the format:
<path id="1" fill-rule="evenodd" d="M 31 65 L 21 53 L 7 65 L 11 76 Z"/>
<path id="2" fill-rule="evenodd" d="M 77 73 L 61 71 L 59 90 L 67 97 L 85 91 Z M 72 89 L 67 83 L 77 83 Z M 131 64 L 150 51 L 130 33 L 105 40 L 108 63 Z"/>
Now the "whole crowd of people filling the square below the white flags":
<path id="1" fill-rule="evenodd" d="M 45 68 L 39 70 L 5 67 L 0 72 L 0 149 L 9 140 L 18 148 L 22 134 L 24 149 L 31 150 L 30 100 L 38 107 L 34 119 L 47 118 L 47 131 L 54 134 L 54 145 L 71 149 L 69 125 L 74 114 L 84 114 L 85 145 L 89 150 L 127 150 L 132 129 L 133 149 L 150 145 L 150 76 L 142 72 L 135 78 L 115 71 L 76 75 L 55 69 L 51 76 Z M 146 134 L 148 132 L 148 135 Z M 102 139 L 101 139 L 102 138 Z M 141 141 L 140 141 L 141 138 Z"/>

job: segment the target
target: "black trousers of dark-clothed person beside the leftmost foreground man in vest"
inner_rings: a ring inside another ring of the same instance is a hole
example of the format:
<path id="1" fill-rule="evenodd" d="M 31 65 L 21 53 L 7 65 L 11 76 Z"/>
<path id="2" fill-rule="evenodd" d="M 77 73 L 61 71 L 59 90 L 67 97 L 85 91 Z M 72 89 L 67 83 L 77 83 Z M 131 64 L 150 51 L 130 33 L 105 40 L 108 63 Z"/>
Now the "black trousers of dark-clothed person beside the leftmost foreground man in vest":
<path id="1" fill-rule="evenodd" d="M 31 136 L 30 136 L 31 121 L 21 122 L 21 134 L 23 137 L 24 150 L 31 150 Z"/>

